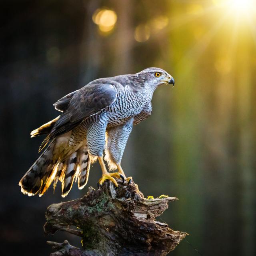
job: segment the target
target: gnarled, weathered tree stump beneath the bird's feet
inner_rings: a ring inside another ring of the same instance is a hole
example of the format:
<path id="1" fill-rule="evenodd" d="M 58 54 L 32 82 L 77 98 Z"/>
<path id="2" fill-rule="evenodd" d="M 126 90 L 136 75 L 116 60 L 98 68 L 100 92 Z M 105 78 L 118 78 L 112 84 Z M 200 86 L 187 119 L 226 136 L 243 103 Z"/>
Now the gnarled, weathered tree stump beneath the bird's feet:
<path id="1" fill-rule="evenodd" d="M 98 190 L 90 187 L 81 199 L 52 204 L 47 208 L 45 234 L 62 230 L 82 237 L 83 250 L 48 242 L 56 252 L 51 256 L 164 256 L 186 233 L 158 222 L 175 197 L 144 198 L 133 182 L 118 180 L 116 188 L 105 182 Z M 80 230 L 69 228 L 75 226 Z"/>

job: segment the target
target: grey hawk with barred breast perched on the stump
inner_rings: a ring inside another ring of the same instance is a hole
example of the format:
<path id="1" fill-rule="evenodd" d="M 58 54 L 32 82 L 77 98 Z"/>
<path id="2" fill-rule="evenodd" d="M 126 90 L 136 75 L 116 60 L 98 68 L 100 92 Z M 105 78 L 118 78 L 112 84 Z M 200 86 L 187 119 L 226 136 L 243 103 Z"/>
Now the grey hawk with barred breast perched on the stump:
<path id="1" fill-rule="evenodd" d="M 120 165 L 132 126 L 148 118 L 152 95 L 161 84 L 172 84 L 174 78 L 160 68 L 146 68 L 136 74 L 96 79 L 80 90 L 71 92 L 53 105 L 60 116 L 31 132 L 31 137 L 47 134 L 40 146 L 42 154 L 20 180 L 21 191 L 28 196 L 42 196 L 54 182 L 62 182 L 62 197 L 74 180 L 82 189 L 90 165 L 99 160 L 102 178 L 126 178 Z M 104 164 L 108 162 L 108 172 Z"/>

